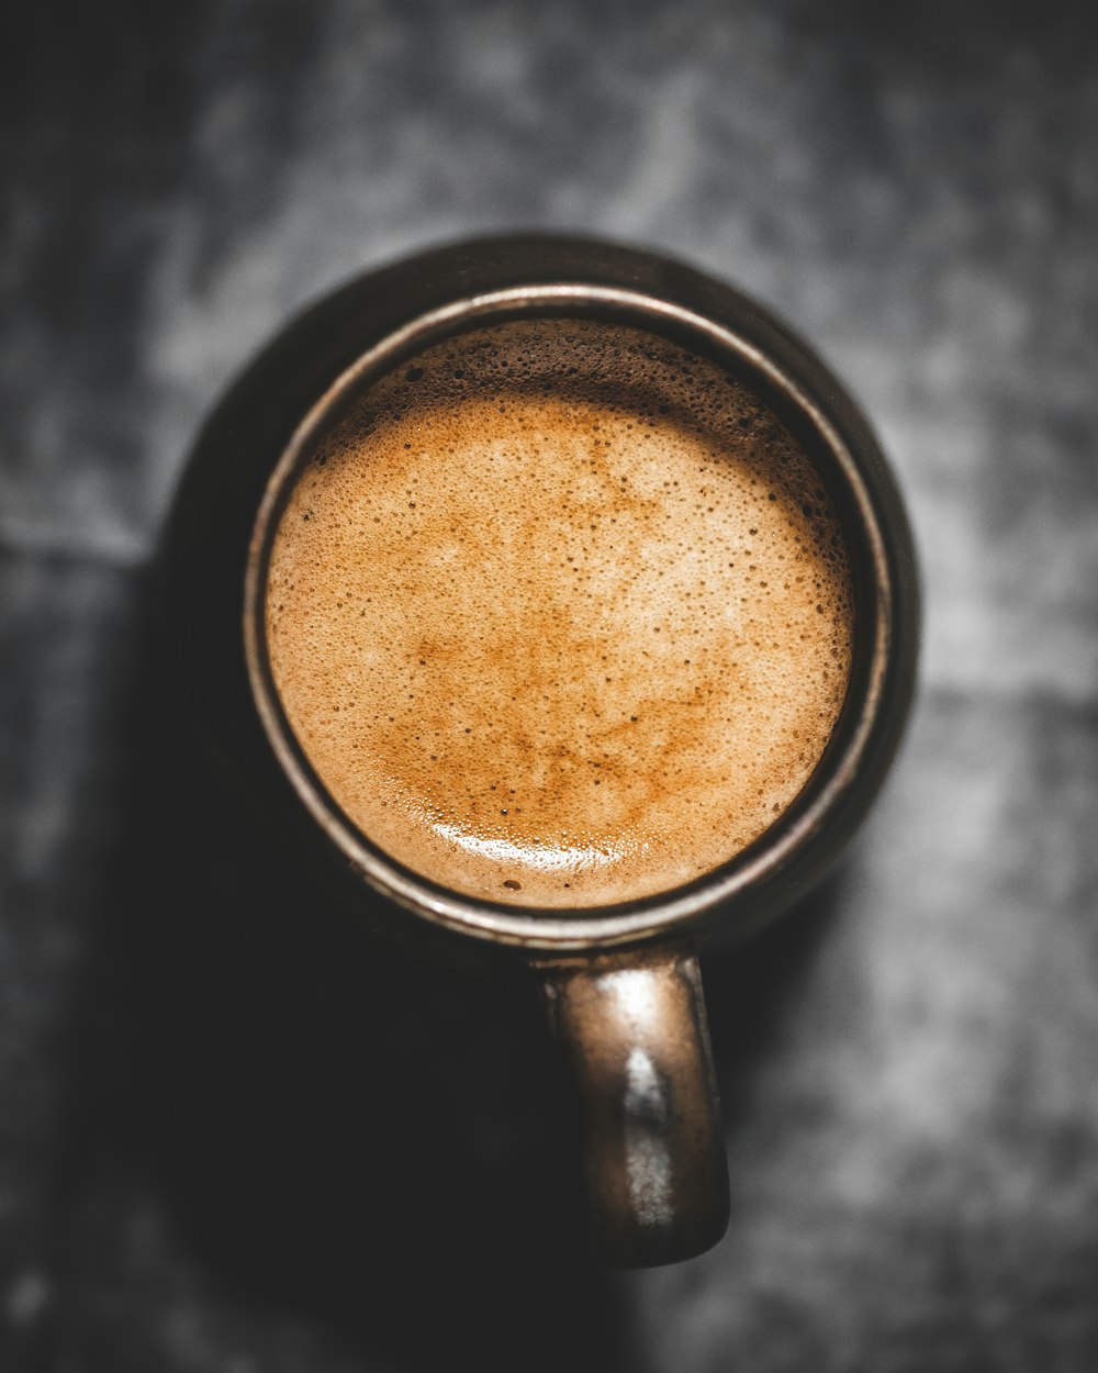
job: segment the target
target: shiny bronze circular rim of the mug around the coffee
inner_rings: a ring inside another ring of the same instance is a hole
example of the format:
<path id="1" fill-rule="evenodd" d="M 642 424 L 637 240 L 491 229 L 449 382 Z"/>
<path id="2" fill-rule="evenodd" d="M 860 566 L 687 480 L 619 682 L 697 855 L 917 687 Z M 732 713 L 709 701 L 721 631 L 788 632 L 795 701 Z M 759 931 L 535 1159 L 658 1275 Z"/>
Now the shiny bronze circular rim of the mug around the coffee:
<path id="1" fill-rule="evenodd" d="M 828 431 L 826 420 L 814 411 L 811 401 L 771 362 L 727 331 L 662 302 L 629 298 L 620 291 L 600 292 L 593 287 L 564 287 L 559 291 L 541 288 L 537 292 L 541 299 L 531 299 L 531 294 L 500 292 L 495 298 L 464 302 L 449 312 L 436 312 L 435 316 L 414 321 L 399 335 L 382 341 L 366 351 L 317 402 L 283 454 L 257 522 L 246 626 L 250 673 L 268 736 L 298 795 L 329 838 L 375 887 L 417 914 L 483 932 L 490 938 L 552 942 L 557 925 L 571 931 L 563 938 L 579 938 L 578 924 L 583 925 L 586 938 L 592 938 L 596 931 L 620 936 L 655 924 L 693 919 L 715 901 L 726 899 L 729 894 L 748 886 L 767 862 L 780 861 L 784 853 L 797 844 L 800 833 L 818 824 L 828 805 L 829 783 L 844 768 L 848 769 L 852 751 L 856 754 L 859 739 L 865 736 L 866 693 L 873 682 L 873 660 L 878 648 L 876 616 L 867 614 L 867 610 L 876 604 L 878 578 L 873 551 L 867 546 L 863 503 L 859 504 L 858 500 L 856 481 L 851 482 L 850 457 L 834 434 Z M 273 685 L 262 621 L 270 551 L 287 501 L 318 446 L 362 393 L 439 339 L 531 316 L 596 319 L 641 330 L 656 341 L 667 341 L 708 358 L 741 380 L 763 405 L 781 417 L 828 489 L 847 545 L 855 597 L 855 641 L 845 703 L 815 772 L 792 805 L 748 849 L 693 881 L 626 905 L 587 905 L 576 912 L 560 908 L 538 910 L 530 905 L 515 908 L 506 901 L 463 897 L 435 886 L 382 851 L 335 803 L 290 728 Z"/>

